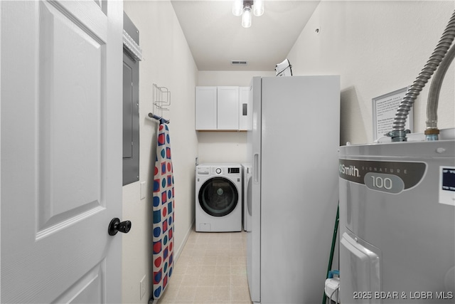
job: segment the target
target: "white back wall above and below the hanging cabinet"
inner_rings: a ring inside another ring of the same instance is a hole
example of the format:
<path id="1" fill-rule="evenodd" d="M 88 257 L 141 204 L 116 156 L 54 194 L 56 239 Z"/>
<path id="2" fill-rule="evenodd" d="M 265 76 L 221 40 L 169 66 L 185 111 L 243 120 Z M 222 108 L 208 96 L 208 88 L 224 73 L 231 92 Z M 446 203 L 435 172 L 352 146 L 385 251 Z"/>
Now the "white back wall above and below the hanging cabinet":
<path id="1" fill-rule="evenodd" d="M 238 85 L 247 87 L 254 76 L 274 76 L 270 71 L 201 70 L 198 85 Z M 198 132 L 198 162 L 246 162 L 247 132 Z"/>

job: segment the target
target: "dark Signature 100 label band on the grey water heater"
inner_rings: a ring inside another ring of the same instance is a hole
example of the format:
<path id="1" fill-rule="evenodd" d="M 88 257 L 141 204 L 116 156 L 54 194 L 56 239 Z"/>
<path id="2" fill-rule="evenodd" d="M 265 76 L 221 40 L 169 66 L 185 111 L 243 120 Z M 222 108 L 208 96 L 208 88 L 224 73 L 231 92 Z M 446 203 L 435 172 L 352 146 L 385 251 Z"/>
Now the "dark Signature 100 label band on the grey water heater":
<path id="1" fill-rule="evenodd" d="M 342 179 L 382 192 L 400 193 L 410 189 L 424 177 L 424 162 L 380 162 L 339 159 L 338 174 Z"/>

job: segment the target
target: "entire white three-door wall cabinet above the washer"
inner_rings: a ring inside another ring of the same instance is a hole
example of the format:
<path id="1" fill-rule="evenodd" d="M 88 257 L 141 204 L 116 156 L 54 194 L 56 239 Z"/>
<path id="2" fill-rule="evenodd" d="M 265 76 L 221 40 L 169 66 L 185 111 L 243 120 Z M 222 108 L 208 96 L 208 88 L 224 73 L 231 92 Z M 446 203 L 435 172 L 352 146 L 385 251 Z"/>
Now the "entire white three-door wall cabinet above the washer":
<path id="1" fill-rule="evenodd" d="M 251 130 L 250 87 L 196 87 L 196 130 Z"/>

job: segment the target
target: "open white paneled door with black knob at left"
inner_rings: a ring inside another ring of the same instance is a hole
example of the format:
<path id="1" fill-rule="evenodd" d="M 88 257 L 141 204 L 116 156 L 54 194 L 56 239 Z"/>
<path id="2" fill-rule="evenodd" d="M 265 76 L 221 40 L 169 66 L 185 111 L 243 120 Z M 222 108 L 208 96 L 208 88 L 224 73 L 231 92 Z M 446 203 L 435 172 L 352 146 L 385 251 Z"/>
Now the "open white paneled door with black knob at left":
<path id="1" fill-rule="evenodd" d="M 1 302 L 121 302 L 122 2 L 0 1 Z"/>

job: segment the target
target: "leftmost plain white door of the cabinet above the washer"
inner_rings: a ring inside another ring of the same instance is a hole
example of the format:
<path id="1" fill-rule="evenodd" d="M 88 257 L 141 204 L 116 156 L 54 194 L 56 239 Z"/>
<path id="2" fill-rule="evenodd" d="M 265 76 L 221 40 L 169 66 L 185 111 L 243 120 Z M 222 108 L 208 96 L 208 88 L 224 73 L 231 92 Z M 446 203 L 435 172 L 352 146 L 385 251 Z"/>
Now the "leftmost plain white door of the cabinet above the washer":
<path id="1" fill-rule="evenodd" d="M 196 87 L 196 130 L 217 129 L 217 87 Z"/>

